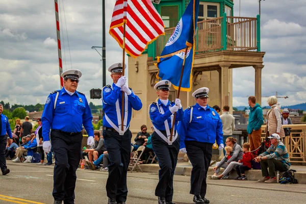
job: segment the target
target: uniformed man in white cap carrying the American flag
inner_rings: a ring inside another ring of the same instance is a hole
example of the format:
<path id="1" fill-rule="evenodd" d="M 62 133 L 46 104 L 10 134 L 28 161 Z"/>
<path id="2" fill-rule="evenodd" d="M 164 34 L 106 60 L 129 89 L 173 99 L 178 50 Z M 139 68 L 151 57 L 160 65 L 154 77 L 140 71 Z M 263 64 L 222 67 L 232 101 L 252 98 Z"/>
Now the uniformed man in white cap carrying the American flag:
<path id="1" fill-rule="evenodd" d="M 127 196 L 126 175 L 131 157 L 130 121 L 133 109 L 139 111 L 142 103 L 125 84 L 126 77 L 122 76 L 122 63 L 112 64 L 108 70 L 111 72 L 113 84 L 103 87 L 102 90 L 105 113 L 104 140 L 110 159 L 106 191 L 109 204 L 123 204 Z M 121 130 L 122 91 L 124 93 L 123 131 Z"/>

